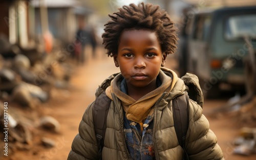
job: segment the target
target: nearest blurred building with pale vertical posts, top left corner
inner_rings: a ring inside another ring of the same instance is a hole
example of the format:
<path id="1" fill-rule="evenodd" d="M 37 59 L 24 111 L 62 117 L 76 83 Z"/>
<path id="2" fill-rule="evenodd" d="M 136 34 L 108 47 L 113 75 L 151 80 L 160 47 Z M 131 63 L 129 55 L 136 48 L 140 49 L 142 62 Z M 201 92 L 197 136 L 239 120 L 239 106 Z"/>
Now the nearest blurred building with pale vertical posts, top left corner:
<path id="1" fill-rule="evenodd" d="M 11 44 L 31 46 L 31 19 L 29 1 L 2 1 L 0 5 L 0 34 Z"/>

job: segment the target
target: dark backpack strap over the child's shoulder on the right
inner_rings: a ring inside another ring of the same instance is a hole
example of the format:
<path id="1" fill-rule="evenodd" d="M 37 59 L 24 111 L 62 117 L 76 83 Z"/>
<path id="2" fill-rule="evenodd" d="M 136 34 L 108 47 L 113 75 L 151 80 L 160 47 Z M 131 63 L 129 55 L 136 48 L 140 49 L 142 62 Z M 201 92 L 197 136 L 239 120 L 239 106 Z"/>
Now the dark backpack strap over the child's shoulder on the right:
<path id="1" fill-rule="evenodd" d="M 185 139 L 188 129 L 188 93 L 173 99 L 173 118 L 175 132 L 179 141 L 180 146 L 183 148 L 185 155 L 183 159 L 188 159 L 188 155 L 185 150 Z"/>

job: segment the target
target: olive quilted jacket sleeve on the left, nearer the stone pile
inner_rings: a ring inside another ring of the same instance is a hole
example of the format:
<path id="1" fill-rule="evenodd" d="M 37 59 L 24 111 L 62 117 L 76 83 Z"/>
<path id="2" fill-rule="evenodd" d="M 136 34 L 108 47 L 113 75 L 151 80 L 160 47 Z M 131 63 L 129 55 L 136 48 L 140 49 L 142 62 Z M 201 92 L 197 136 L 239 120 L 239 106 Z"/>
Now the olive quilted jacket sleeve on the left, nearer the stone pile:
<path id="1" fill-rule="evenodd" d="M 98 145 L 93 124 L 93 105 L 88 106 L 79 124 L 79 133 L 72 142 L 68 159 L 97 159 Z"/>

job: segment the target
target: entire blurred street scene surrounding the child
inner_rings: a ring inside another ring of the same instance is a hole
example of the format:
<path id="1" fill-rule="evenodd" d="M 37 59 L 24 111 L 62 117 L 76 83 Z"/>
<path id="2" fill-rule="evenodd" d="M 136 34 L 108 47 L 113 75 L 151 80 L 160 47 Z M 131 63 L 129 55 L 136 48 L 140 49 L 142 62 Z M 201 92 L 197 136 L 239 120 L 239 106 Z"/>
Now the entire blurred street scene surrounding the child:
<path id="1" fill-rule="evenodd" d="M 256 158 L 254 0 L 1 0 L 1 159 L 67 159 L 98 85 L 119 72 L 102 46 L 108 14 L 139 2 L 176 22 L 165 67 L 199 77 L 224 158 Z"/>

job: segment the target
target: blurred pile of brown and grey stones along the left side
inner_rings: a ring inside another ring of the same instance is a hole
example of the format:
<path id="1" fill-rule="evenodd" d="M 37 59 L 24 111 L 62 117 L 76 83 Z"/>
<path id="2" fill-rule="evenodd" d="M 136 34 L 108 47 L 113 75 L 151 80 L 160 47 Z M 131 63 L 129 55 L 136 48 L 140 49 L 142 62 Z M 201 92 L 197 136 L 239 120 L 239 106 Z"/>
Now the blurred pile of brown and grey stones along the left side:
<path id="1" fill-rule="evenodd" d="M 5 144 L 4 131 L 8 127 L 9 153 L 33 148 L 40 129 L 54 133 L 60 130 L 59 122 L 45 115 L 42 108 L 56 90 L 67 91 L 71 87 L 72 61 L 59 50 L 56 47 L 51 54 L 44 54 L 37 48 L 12 45 L 0 35 L 0 146 Z M 41 137 L 40 145 L 54 144 Z"/>

